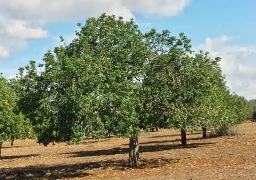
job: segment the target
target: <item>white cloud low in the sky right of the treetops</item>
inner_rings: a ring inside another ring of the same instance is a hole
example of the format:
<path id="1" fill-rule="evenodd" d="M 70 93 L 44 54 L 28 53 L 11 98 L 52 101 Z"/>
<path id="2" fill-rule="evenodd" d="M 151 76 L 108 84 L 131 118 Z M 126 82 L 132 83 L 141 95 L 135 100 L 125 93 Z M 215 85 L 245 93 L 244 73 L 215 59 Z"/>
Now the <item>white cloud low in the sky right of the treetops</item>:
<path id="1" fill-rule="evenodd" d="M 208 51 L 212 57 L 220 56 L 230 89 L 247 99 L 256 99 L 256 46 L 230 45 L 235 39 L 226 35 L 206 38 L 195 49 Z"/>

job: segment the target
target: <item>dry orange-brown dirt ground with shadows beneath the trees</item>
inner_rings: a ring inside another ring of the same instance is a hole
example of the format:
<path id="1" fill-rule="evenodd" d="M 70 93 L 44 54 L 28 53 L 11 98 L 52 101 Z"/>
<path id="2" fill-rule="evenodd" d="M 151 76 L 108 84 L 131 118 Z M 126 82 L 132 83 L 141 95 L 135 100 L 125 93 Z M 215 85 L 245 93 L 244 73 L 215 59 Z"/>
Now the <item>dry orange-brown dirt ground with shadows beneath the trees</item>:
<path id="1" fill-rule="evenodd" d="M 127 167 L 128 139 L 47 148 L 34 140 L 15 141 L 14 148 L 6 142 L 0 179 L 256 180 L 256 123 L 240 129 L 247 134 L 201 139 L 201 131 L 188 132 L 187 147 L 179 131 L 142 133 L 138 168 Z"/>

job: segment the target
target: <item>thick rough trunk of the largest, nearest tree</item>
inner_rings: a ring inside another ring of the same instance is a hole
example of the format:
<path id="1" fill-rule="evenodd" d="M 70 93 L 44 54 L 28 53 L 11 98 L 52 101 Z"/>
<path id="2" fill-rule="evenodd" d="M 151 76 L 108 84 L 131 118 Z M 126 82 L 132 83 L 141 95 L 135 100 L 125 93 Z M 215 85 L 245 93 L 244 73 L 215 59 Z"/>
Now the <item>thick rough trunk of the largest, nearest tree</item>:
<path id="1" fill-rule="evenodd" d="M 138 166 L 140 163 L 139 158 L 139 141 L 138 137 L 130 137 L 130 153 L 129 153 L 129 166 Z"/>

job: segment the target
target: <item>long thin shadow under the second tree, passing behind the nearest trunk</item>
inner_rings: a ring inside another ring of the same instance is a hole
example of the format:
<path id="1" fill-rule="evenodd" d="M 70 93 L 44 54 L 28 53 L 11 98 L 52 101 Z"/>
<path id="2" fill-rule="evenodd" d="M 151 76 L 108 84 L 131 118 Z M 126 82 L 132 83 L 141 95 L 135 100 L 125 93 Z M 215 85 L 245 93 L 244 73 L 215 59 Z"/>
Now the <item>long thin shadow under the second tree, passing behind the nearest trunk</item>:
<path id="1" fill-rule="evenodd" d="M 187 146 L 181 146 L 180 144 L 172 145 L 147 145 L 140 146 L 140 152 L 154 152 L 162 150 L 173 150 L 173 149 L 183 149 L 183 148 L 197 148 L 203 145 L 216 144 L 214 142 L 208 143 L 191 143 Z M 74 153 L 64 153 L 71 154 L 71 157 L 85 157 L 85 156 L 102 156 L 102 155 L 115 155 L 115 154 L 126 154 L 129 152 L 129 148 L 112 148 L 108 150 L 95 150 L 95 151 L 78 151 Z"/>

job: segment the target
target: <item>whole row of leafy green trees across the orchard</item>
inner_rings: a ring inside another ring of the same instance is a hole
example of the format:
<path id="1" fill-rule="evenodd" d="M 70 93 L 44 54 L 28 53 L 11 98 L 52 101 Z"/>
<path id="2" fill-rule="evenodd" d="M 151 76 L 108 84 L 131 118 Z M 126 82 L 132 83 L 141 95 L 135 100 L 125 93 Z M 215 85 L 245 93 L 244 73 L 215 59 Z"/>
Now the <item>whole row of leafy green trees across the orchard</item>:
<path id="1" fill-rule="evenodd" d="M 1 77 L 0 143 L 29 132 L 44 146 L 111 133 L 130 138 L 129 165 L 137 166 L 141 129 L 181 129 L 185 146 L 186 129 L 206 136 L 207 127 L 247 118 L 247 100 L 230 94 L 221 58 L 195 53 L 185 34 L 143 34 L 133 20 L 105 13 L 78 26 L 70 44 L 61 38 L 44 55 L 42 72 L 30 61 L 9 82 Z M 12 137 L 12 128 L 26 133 Z"/>

